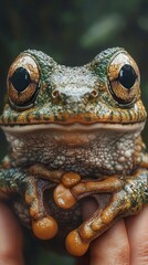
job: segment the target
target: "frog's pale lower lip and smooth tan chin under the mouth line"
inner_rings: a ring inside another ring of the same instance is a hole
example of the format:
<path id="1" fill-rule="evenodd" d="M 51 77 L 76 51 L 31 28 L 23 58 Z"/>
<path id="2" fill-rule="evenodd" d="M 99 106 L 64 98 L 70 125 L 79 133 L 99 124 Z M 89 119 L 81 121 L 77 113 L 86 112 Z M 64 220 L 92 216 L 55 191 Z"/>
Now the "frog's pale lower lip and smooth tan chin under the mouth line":
<path id="1" fill-rule="evenodd" d="M 76 148 L 92 145 L 93 142 L 103 139 L 119 139 L 124 135 L 129 138 L 137 137 L 144 129 L 145 121 L 137 124 L 36 124 L 36 125 L 14 125 L 14 126 L 2 126 L 7 138 L 11 141 L 12 138 L 25 138 L 30 141 L 30 138 L 36 140 L 44 140 L 53 142 L 53 145 L 65 146 L 66 148 Z"/>

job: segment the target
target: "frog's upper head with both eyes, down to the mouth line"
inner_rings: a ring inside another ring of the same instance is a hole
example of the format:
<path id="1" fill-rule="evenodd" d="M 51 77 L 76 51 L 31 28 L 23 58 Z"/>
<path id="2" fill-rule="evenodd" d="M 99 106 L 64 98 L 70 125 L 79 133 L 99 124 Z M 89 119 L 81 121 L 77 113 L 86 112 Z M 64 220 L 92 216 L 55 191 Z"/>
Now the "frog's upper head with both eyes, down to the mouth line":
<path id="1" fill-rule="evenodd" d="M 10 66 L 1 125 L 137 124 L 146 119 L 136 62 L 107 49 L 78 67 L 27 50 Z"/>

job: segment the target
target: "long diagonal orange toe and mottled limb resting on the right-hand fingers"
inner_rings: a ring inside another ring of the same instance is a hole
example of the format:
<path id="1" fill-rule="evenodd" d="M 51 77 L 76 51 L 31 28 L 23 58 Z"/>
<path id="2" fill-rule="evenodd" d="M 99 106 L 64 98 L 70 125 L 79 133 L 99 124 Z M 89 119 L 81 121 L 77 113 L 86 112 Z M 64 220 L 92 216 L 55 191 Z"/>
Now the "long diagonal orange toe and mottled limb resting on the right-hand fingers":
<path id="1" fill-rule="evenodd" d="M 97 210 L 78 229 L 70 232 L 66 248 L 74 256 L 82 256 L 89 243 L 109 229 L 118 219 L 137 213 L 148 203 L 148 172 L 138 172 L 125 179 L 124 189 L 113 193 L 107 206 Z M 142 183 L 142 184 L 141 184 Z"/>

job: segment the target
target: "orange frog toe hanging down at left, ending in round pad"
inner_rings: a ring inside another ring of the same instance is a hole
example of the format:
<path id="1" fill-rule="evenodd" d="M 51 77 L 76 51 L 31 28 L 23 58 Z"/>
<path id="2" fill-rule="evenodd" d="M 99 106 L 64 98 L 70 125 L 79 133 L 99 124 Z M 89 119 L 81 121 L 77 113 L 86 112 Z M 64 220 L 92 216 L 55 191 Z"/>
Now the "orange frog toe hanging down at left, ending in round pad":
<path id="1" fill-rule="evenodd" d="M 49 181 L 31 179 L 25 191 L 25 202 L 30 208 L 32 231 L 40 240 L 50 240 L 57 233 L 56 221 L 46 213 L 43 204 L 43 192 L 49 189 Z"/>

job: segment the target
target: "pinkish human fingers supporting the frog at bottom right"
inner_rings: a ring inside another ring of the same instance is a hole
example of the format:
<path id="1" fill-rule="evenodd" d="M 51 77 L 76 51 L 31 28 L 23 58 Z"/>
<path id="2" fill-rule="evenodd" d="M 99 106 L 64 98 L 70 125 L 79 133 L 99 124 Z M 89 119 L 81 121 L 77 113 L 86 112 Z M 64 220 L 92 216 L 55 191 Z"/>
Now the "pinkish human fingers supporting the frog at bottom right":
<path id="1" fill-rule="evenodd" d="M 95 204 L 87 201 L 83 208 L 84 218 L 94 210 Z M 89 258 L 85 262 L 80 258 L 77 265 L 148 265 L 148 206 L 136 215 L 119 220 L 96 239 Z"/>

